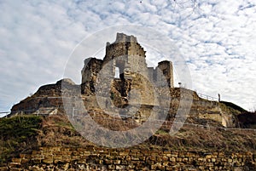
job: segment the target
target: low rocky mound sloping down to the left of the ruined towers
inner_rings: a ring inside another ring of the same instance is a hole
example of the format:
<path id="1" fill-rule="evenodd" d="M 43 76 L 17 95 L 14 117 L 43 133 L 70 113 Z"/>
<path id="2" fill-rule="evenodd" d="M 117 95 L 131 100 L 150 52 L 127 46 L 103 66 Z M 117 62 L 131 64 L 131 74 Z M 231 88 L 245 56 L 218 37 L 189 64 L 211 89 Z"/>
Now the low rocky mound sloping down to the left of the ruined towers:
<path id="1" fill-rule="evenodd" d="M 14 105 L 9 117 L 23 114 L 51 115 L 63 112 L 62 91 L 71 92 L 79 85 L 71 79 L 61 79 L 55 84 L 44 85 L 20 103 Z"/>

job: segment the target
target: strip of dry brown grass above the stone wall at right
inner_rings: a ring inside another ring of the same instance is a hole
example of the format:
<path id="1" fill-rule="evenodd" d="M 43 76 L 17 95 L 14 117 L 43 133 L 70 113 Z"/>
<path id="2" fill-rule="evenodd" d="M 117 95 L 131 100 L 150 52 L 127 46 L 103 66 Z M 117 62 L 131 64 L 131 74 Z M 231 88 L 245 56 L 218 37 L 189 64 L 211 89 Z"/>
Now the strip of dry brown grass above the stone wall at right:
<path id="1" fill-rule="evenodd" d="M 189 151 L 255 151 L 256 134 L 242 129 L 185 127 L 173 136 L 156 134 L 146 143 Z"/>

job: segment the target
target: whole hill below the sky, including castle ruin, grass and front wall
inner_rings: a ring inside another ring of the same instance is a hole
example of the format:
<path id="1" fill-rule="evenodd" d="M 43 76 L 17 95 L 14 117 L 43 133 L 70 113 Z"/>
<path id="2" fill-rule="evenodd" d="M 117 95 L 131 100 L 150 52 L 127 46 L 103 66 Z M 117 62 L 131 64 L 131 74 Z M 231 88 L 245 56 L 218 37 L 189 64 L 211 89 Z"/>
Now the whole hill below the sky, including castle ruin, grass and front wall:
<path id="1" fill-rule="evenodd" d="M 255 114 L 175 88 L 172 61 L 145 58 L 117 33 L 103 60 L 84 60 L 81 84 L 15 104 L 0 119 L 0 170 L 256 170 Z"/>

